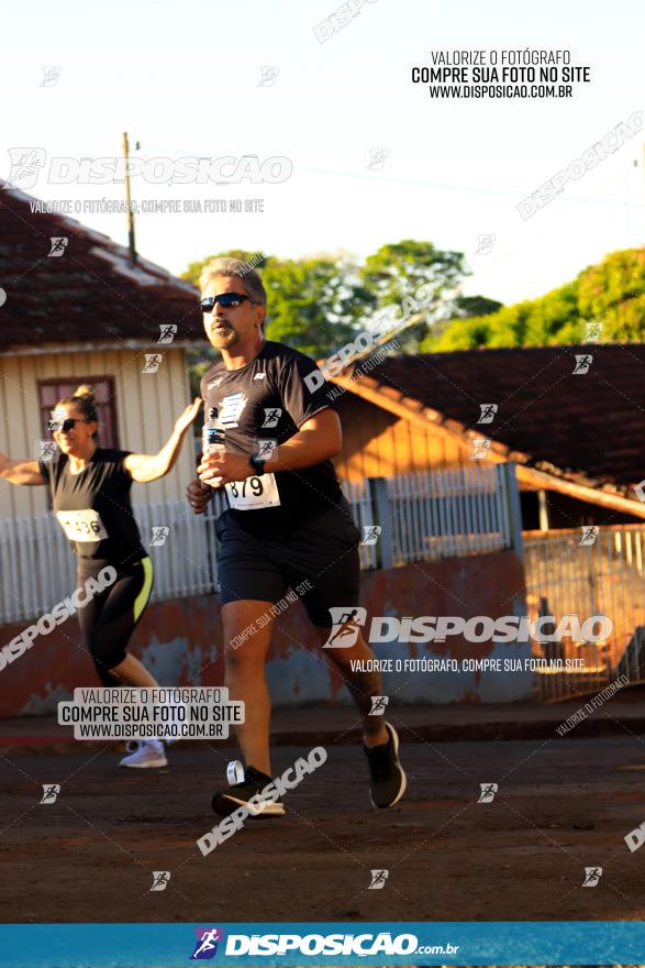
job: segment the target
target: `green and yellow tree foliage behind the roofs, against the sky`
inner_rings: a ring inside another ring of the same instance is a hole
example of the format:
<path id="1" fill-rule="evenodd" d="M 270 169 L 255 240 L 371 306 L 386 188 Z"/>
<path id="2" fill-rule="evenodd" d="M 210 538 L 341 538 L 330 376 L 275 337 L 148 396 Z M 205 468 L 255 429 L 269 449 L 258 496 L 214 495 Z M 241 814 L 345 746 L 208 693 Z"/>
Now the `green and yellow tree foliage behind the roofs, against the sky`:
<path id="1" fill-rule="evenodd" d="M 218 254 L 254 257 L 241 250 Z M 197 284 L 214 257 L 191 263 L 184 278 Z M 268 337 L 316 359 L 351 342 L 375 315 L 401 306 L 420 286 L 441 299 L 468 275 L 463 253 L 412 239 L 382 245 L 363 263 L 347 253 L 299 260 L 269 255 L 258 268 L 268 294 Z M 398 340 L 401 350 L 580 343 L 589 322 L 602 324 L 602 342 L 644 341 L 645 249 L 611 253 L 537 299 L 501 306 L 486 296 L 459 296 L 454 306 L 454 318 L 405 330 Z"/>

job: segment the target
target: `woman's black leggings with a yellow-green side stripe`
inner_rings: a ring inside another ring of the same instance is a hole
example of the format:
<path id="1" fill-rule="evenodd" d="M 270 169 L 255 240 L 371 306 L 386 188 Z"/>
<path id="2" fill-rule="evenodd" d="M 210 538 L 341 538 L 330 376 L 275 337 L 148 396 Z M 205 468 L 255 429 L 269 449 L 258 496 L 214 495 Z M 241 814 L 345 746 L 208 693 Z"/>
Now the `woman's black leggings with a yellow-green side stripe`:
<path id="1" fill-rule="evenodd" d="M 108 562 L 84 559 L 78 569 L 78 587 L 96 579 Z M 116 568 L 116 580 L 89 597 L 76 613 L 85 644 L 103 685 L 123 685 L 110 673 L 125 659 L 127 642 L 145 612 L 153 587 L 153 563 L 144 558 Z"/>

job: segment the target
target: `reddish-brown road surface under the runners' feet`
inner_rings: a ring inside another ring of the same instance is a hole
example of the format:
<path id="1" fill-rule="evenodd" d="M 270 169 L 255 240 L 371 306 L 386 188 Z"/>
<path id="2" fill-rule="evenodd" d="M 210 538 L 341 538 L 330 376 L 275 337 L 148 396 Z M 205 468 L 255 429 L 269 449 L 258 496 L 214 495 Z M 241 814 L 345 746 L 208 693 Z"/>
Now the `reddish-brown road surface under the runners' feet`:
<path id="1" fill-rule="evenodd" d="M 171 750 L 164 771 L 101 752 L 0 759 L 4 922 L 642 920 L 645 743 L 624 738 L 407 744 L 409 789 L 375 811 L 359 748 L 203 857 L 230 750 Z M 309 747 L 281 747 L 281 772 Z M 59 783 L 40 804 L 43 783 Z M 477 803 L 480 783 L 498 783 Z M 586 867 L 602 867 L 582 888 Z M 372 869 L 385 888 L 369 890 Z M 153 871 L 170 871 L 151 891 Z"/>

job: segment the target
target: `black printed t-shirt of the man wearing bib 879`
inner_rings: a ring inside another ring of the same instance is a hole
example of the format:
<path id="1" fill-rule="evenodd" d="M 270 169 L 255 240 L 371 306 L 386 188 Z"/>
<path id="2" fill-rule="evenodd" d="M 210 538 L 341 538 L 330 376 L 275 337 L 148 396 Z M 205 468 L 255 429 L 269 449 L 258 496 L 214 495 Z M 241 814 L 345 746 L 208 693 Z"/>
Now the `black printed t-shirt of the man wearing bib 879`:
<path id="1" fill-rule="evenodd" d="M 258 457 L 263 442 L 283 443 L 330 407 L 329 384 L 320 372 L 318 378 L 310 377 L 315 371 L 310 356 L 271 341 L 241 370 L 226 370 L 223 360 L 215 363 L 202 377 L 201 395 L 207 417 L 211 407 L 218 410 L 226 450 Z M 342 498 L 329 460 L 230 484 L 226 495 L 235 519 L 252 534 L 267 537 L 293 531 Z"/>

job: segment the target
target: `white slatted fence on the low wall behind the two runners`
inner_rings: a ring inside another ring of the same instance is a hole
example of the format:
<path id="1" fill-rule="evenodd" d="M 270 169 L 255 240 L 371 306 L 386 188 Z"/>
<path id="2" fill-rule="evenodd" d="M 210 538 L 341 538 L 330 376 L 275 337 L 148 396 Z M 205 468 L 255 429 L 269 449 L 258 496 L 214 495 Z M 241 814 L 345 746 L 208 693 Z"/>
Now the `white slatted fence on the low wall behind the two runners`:
<path id="1" fill-rule="evenodd" d="M 372 477 L 343 490 L 364 536 L 363 569 L 483 553 L 521 540 L 512 464 Z M 225 506 L 218 492 L 204 515 L 185 501 L 134 507 L 155 570 L 152 601 L 216 588 L 214 525 Z M 75 586 L 75 558 L 53 515 L 0 518 L 0 625 L 51 610 Z"/>

